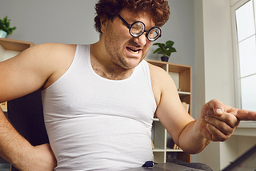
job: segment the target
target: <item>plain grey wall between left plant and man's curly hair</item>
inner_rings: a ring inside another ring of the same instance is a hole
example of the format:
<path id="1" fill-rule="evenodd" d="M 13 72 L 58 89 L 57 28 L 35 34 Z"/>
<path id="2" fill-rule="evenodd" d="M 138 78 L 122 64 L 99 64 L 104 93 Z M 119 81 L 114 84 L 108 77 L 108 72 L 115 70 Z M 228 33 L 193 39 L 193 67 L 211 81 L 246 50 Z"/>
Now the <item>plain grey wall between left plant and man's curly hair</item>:
<path id="1" fill-rule="evenodd" d="M 34 42 L 93 43 L 95 0 L 8 0 L 1 1 L 0 18 L 8 15 L 17 26 L 7 38 Z"/>

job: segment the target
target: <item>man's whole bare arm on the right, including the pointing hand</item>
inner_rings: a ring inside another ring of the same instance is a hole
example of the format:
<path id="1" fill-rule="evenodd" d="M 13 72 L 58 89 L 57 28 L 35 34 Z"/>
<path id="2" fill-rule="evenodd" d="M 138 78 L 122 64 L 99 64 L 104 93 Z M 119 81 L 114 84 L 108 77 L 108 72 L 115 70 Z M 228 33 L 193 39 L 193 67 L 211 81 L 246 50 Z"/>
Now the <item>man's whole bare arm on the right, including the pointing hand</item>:
<path id="1" fill-rule="evenodd" d="M 158 103 L 156 115 L 186 153 L 199 153 L 210 141 L 226 141 L 241 120 L 256 121 L 256 112 L 235 109 L 218 100 L 203 105 L 198 120 L 194 121 L 182 106 L 170 76 L 165 71 L 150 68 Z"/>

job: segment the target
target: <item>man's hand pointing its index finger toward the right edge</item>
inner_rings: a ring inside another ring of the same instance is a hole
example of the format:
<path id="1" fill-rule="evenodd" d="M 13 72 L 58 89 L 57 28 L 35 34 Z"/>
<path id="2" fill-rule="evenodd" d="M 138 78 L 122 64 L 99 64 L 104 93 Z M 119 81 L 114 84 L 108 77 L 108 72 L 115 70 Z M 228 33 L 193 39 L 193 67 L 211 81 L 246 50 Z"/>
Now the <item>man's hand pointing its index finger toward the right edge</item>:
<path id="1" fill-rule="evenodd" d="M 212 100 L 202 106 L 199 130 L 210 141 L 226 141 L 240 121 L 256 121 L 256 112 L 235 109 Z"/>

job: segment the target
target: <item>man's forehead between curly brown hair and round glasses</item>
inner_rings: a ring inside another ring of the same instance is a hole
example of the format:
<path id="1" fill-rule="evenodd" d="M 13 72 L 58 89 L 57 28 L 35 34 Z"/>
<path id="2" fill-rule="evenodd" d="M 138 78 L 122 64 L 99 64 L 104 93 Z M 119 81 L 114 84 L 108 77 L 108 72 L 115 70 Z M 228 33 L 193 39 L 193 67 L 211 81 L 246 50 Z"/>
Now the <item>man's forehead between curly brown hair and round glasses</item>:
<path id="1" fill-rule="evenodd" d="M 121 10 L 119 14 L 129 24 L 131 24 L 132 22 L 141 21 L 147 27 L 155 26 L 155 23 L 153 22 L 153 19 L 149 13 L 146 13 L 146 12 L 134 13 L 134 12 L 131 12 L 130 10 L 124 9 L 124 10 Z"/>

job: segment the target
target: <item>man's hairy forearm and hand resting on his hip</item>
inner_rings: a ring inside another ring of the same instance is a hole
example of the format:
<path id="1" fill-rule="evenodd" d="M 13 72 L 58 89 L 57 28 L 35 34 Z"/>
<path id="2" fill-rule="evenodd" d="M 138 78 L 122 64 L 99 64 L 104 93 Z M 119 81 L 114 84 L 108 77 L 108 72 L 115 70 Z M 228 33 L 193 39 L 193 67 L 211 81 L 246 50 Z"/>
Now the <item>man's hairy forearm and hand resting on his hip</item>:
<path id="1" fill-rule="evenodd" d="M 0 110 L 0 155 L 19 170 L 53 170 L 56 159 L 50 145 L 32 146 L 20 136 Z"/>

